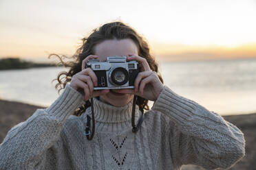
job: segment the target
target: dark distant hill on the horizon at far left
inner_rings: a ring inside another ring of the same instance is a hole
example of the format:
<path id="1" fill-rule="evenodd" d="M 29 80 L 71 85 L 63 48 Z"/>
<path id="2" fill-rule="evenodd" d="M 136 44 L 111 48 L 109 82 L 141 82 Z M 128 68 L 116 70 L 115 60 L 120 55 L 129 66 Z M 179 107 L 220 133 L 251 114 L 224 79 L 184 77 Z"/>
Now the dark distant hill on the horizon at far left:
<path id="1" fill-rule="evenodd" d="M 20 58 L 1 58 L 0 70 L 9 69 L 30 69 L 34 67 L 56 66 L 56 64 L 50 63 L 35 63 L 21 60 Z"/>

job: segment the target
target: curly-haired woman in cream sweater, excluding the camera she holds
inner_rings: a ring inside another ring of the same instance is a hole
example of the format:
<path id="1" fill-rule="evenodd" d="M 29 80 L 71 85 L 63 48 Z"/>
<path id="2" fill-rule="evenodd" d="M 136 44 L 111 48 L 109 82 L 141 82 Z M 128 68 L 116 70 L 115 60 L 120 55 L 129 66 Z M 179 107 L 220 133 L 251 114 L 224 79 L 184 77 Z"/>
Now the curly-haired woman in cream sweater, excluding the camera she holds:
<path id="1" fill-rule="evenodd" d="M 107 56 L 138 61 L 134 89 L 94 90 L 97 77 L 85 65 Z M 225 169 L 244 156 L 242 132 L 164 86 L 147 42 L 131 27 L 114 22 L 94 29 L 74 58 L 66 64 L 70 71 L 58 75 L 57 87 L 65 89 L 54 104 L 8 132 L 1 169 Z"/>

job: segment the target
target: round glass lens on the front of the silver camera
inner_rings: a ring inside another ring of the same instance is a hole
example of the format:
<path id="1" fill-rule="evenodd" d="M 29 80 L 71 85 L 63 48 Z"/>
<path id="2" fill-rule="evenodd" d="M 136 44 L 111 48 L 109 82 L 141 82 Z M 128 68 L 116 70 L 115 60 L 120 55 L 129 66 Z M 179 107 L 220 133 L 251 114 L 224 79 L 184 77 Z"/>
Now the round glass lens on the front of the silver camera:
<path id="1" fill-rule="evenodd" d="M 128 82 L 129 74 L 126 69 L 118 67 L 111 73 L 111 80 L 114 84 L 123 85 Z"/>

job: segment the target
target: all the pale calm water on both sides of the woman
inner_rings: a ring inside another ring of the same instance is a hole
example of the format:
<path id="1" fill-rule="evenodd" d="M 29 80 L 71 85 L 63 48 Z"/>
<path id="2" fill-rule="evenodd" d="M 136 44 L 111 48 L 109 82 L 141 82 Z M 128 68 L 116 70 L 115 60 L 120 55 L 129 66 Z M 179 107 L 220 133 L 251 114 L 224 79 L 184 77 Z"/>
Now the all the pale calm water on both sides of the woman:
<path id="1" fill-rule="evenodd" d="M 50 106 L 58 97 L 51 83 L 64 68 L 0 71 L 0 97 Z M 256 60 L 160 63 L 164 84 L 178 95 L 224 114 L 256 112 Z"/>

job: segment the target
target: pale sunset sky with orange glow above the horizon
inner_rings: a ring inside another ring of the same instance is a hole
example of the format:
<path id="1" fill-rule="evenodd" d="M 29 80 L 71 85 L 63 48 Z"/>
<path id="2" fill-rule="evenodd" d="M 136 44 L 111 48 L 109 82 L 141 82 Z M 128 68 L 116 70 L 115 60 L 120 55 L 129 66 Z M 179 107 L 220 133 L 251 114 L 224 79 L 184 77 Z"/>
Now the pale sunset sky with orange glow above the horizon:
<path id="1" fill-rule="evenodd" d="M 0 58 L 72 55 L 111 21 L 144 36 L 159 60 L 256 58 L 256 0 L 0 0 Z"/>

